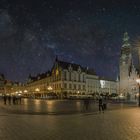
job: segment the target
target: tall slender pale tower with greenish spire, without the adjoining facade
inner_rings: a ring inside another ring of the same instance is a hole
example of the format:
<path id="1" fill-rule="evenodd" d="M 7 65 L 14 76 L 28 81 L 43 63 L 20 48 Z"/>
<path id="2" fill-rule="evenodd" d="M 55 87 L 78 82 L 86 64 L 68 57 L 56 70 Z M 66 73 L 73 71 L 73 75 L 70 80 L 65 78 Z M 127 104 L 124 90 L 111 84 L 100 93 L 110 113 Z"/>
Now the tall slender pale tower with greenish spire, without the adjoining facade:
<path id="1" fill-rule="evenodd" d="M 123 45 L 120 56 L 120 93 L 124 96 L 128 94 L 128 79 L 132 67 L 131 45 L 129 43 L 128 33 L 124 33 Z"/>

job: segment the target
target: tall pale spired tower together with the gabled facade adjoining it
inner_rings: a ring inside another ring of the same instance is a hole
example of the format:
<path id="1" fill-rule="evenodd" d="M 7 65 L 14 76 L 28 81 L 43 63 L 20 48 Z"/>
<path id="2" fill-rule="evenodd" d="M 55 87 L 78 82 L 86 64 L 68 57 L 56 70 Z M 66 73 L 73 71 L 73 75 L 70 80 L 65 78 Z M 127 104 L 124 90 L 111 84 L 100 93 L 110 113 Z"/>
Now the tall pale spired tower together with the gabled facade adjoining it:
<path id="1" fill-rule="evenodd" d="M 121 47 L 118 92 L 128 100 L 136 100 L 138 93 L 136 80 L 139 75 L 138 70 L 133 64 L 132 50 L 133 48 L 129 43 L 129 36 L 126 32 L 124 33 L 123 45 Z"/>

